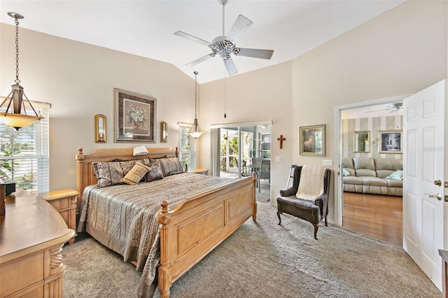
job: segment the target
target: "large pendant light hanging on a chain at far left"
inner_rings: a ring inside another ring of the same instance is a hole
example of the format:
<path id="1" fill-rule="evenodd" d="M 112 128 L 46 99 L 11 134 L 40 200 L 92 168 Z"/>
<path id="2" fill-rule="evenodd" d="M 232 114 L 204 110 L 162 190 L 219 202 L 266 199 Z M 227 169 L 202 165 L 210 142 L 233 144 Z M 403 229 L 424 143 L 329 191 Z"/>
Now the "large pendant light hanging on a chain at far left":
<path id="1" fill-rule="evenodd" d="M 8 15 L 15 20 L 15 84 L 11 85 L 13 90 L 0 104 L 0 123 L 19 130 L 21 127 L 26 127 L 37 120 L 43 119 L 43 117 L 36 113 L 25 92 L 23 92 L 23 87 L 19 85 L 19 20 L 23 19 L 23 15 L 18 13 L 8 13 Z M 29 111 L 34 111 L 34 115 L 27 115 L 24 99 L 30 107 Z M 12 108 L 11 104 L 13 104 Z M 6 111 L 3 111 L 5 107 Z M 9 112 L 9 108 L 13 111 Z"/>

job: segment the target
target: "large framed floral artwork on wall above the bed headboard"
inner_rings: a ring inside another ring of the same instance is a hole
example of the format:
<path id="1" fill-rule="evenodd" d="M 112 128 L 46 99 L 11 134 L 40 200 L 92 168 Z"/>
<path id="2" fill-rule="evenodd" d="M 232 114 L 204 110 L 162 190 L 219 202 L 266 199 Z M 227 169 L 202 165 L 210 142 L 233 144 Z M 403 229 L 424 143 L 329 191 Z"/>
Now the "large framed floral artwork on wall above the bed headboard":
<path id="1" fill-rule="evenodd" d="M 115 88 L 115 142 L 155 143 L 157 99 Z"/>

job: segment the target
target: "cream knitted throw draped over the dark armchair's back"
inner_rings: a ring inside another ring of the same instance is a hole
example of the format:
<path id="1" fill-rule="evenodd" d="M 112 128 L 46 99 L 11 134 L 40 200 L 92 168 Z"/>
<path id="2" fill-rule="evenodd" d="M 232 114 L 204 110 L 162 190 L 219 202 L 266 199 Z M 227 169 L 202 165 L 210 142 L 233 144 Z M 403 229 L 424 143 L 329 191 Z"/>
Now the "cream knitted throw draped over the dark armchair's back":
<path id="1" fill-rule="evenodd" d="M 325 168 L 321 166 L 303 166 L 300 173 L 300 183 L 295 195 L 299 199 L 314 201 L 323 194 L 323 178 Z"/>

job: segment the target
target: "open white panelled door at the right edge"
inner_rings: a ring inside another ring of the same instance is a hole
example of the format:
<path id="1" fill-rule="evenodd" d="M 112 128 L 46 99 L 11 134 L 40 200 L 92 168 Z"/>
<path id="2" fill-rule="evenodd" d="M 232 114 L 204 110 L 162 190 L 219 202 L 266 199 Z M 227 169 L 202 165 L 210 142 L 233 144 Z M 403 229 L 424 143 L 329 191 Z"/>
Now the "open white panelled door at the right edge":
<path id="1" fill-rule="evenodd" d="M 444 248 L 444 90 L 443 80 L 403 101 L 403 248 L 440 290 L 442 261 L 438 250 Z M 437 180 L 442 185 L 436 185 Z"/>

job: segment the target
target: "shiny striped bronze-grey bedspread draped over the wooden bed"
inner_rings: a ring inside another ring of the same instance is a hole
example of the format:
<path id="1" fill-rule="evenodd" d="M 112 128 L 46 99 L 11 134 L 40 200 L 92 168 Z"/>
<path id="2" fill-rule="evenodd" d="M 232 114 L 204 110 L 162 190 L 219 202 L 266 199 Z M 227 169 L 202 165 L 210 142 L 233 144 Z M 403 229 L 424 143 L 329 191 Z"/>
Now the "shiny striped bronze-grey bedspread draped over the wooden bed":
<path id="1" fill-rule="evenodd" d="M 187 197 L 231 181 L 180 173 L 138 185 L 90 185 L 83 191 L 78 232 L 87 231 L 104 246 L 123 255 L 125 262 L 137 261 L 137 270 L 143 271 L 139 296 L 152 297 L 155 271 L 160 264 L 160 203 L 168 201 L 172 210 Z"/>

